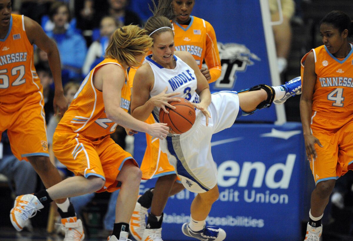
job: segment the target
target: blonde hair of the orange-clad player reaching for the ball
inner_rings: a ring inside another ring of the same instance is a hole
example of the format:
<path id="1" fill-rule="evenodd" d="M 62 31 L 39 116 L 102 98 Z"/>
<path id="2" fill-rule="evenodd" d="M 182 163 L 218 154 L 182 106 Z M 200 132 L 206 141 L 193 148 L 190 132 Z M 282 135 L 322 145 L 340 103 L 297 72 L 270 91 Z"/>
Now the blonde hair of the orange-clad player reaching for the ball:
<path id="1" fill-rule="evenodd" d="M 136 25 L 116 29 L 106 49 L 105 58 L 116 59 L 128 66 L 139 66 L 135 57 L 146 54 L 153 44 L 146 32 Z"/>

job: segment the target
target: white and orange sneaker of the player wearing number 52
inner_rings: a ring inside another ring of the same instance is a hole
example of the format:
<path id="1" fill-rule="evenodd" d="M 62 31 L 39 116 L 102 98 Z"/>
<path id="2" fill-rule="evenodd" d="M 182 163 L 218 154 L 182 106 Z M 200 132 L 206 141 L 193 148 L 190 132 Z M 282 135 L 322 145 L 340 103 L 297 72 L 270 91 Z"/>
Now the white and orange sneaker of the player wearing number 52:
<path id="1" fill-rule="evenodd" d="M 65 231 L 64 241 L 82 241 L 85 238 L 82 221 L 77 217 L 62 218 L 61 228 Z"/>

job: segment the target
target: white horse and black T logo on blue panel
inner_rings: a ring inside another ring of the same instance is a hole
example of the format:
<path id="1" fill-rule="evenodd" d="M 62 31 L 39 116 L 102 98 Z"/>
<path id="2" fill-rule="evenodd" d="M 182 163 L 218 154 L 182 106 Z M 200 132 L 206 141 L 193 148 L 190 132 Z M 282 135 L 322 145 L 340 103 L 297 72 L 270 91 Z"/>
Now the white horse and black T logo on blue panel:
<path id="1" fill-rule="evenodd" d="M 261 59 L 245 45 L 239 43 L 217 43 L 222 74 L 215 82 L 215 88 L 233 89 L 237 80 L 237 72 L 245 72 L 247 66 L 253 65 L 252 60 L 261 61 Z"/>

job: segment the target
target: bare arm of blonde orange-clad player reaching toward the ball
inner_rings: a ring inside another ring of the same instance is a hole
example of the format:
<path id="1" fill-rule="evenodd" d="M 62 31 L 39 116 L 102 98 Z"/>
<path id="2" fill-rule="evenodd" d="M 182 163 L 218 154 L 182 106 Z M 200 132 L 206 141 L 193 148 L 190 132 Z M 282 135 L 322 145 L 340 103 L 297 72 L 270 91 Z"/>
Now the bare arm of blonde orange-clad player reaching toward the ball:
<path id="1" fill-rule="evenodd" d="M 133 118 L 120 107 L 121 89 L 125 83 L 124 70 L 116 64 L 106 64 L 97 70 L 93 78 L 94 86 L 103 92 L 106 115 L 122 127 L 142 131 L 163 139 L 169 133 L 166 124 L 147 124 Z"/>

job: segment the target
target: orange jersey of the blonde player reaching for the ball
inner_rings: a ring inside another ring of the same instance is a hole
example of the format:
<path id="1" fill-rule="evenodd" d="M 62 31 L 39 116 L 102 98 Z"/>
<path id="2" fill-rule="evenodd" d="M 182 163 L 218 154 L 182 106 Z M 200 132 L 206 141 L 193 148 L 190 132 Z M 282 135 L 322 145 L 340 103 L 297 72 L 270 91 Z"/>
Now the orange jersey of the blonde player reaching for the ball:
<path id="1" fill-rule="evenodd" d="M 74 133 L 81 134 L 90 139 L 98 139 L 115 131 L 118 124 L 108 119 L 104 110 L 103 93 L 93 85 L 94 71 L 104 64 L 116 64 L 114 59 L 104 59 L 95 66 L 86 76 L 74 96 L 71 105 L 60 120 L 58 127 L 68 127 Z M 124 67 L 122 67 L 124 69 Z M 126 112 L 130 107 L 131 91 L 125 71 L 125 83 L 121 89 L 120 107 Z"/>

